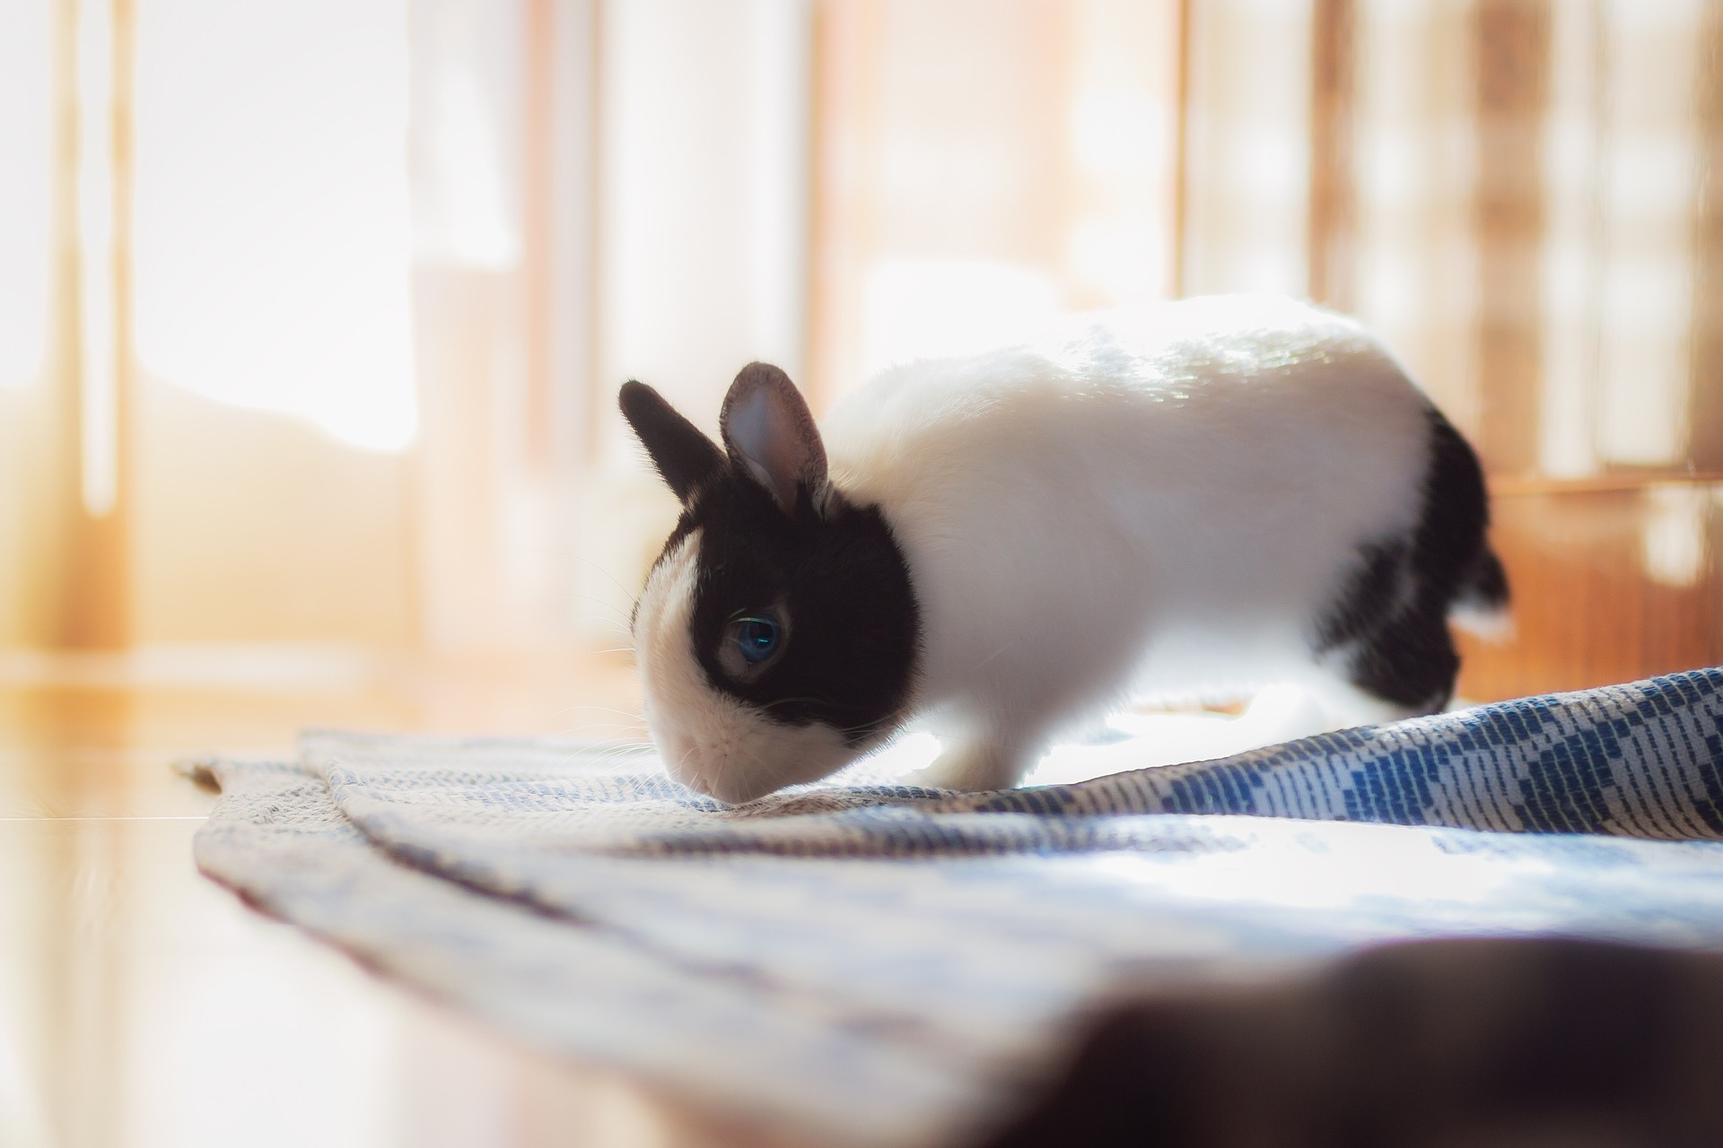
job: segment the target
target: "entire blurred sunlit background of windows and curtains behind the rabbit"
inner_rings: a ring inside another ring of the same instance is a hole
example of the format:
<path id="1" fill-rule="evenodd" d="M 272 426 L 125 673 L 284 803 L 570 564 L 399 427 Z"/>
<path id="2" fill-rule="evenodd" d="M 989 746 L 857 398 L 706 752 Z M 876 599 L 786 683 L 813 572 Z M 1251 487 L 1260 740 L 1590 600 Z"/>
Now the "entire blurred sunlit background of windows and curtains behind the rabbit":
<path id="1" fill-rule="evenodd" d="M 620 380 L 818 410 L 1234 289 L 1480 446 L 1468 697 L 1723 661 L 1720 50 L 1702 0 L 5 0 L 0 671 L 608 664 L 674 515 Z"/>

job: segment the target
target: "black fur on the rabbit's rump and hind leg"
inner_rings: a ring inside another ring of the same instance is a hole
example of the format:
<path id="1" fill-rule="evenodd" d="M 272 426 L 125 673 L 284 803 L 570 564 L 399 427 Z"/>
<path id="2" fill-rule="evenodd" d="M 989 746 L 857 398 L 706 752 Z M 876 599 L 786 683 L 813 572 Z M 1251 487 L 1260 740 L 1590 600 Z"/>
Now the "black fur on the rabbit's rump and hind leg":
<path id="1" fill-rule="evenodd" d="M 1316 621 L 1316 652 L 1351 645 L 1351 680 L 1418 713 L 1447 706 L 1459 654 L 1447 614 L 1502 606 L 1508 577 L 1489 549 L 1489 492 L 1471 446 L 1428 408 L 1430 460 L 1418 523 L 1403 539 L 1358 547 L 1358 566 Z"/>

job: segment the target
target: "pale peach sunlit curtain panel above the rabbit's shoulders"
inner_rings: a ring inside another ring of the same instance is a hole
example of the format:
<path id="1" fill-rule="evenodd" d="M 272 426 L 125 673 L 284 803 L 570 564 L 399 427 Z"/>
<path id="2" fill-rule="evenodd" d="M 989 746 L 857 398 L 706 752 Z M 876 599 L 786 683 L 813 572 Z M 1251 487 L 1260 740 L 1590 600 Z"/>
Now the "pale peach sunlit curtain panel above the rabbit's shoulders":
<path id="1" fill-rule="evenodd" d="M 818 9 L 812 384 L 1177 289 L 1172 0 Z"/>

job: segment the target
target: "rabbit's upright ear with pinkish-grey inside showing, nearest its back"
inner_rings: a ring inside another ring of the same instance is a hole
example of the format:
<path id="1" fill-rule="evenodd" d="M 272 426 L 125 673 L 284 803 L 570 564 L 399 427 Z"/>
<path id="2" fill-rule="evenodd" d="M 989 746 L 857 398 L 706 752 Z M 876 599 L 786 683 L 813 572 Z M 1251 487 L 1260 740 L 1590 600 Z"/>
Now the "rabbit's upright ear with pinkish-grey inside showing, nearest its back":
<path id="1" fill-rule="evenodd" d="M 815 511 L 824 511 L 825 444 L 789 375 L 770 363 L 743 367 L 724 398 L 718 425 L 731 458 L 786 515 L 794 513 L 799 491 L 808 492 Z"/>

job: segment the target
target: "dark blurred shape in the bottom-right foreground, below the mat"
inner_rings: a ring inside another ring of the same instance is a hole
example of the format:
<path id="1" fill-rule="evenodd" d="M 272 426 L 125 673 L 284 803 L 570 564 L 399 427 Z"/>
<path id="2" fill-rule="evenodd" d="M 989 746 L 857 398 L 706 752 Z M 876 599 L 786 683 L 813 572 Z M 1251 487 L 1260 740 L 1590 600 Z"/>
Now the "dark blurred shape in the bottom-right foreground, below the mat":
<path id="1" fill-rule="evenodd" d="M 1030 1145 L 1714 1148 L 1723 957 L 1413 941 L 1292 984 L 1127 1005 L 991 1141 Z"/>

